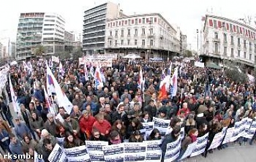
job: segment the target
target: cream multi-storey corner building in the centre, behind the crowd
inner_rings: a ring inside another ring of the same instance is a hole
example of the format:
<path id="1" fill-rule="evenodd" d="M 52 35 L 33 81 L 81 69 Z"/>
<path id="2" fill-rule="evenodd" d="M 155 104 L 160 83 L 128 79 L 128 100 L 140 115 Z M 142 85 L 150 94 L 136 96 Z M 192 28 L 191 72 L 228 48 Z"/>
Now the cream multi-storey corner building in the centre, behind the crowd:
<path id="1" fill-rule="evenodd" d="M 159 13 L 130 15 L 108 19 L 106 53 L 139 54 L 143 58 L 179 53 L 177 31 Z"/>

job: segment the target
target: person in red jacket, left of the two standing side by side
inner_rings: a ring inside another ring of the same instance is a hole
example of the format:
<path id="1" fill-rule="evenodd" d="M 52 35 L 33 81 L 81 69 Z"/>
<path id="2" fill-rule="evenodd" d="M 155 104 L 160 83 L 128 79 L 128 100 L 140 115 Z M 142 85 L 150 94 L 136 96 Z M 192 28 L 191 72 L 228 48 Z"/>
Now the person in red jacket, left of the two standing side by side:
<path id="1" fill-rule="evenodd" d="M 88 110 L 84 110 L 84 115 L 79 120 L 79 126 L 81 131 L 86 135 L 86 139 L 90 139 L 92 135 L 92 125 L 95 121 L 92 113 Z"/>

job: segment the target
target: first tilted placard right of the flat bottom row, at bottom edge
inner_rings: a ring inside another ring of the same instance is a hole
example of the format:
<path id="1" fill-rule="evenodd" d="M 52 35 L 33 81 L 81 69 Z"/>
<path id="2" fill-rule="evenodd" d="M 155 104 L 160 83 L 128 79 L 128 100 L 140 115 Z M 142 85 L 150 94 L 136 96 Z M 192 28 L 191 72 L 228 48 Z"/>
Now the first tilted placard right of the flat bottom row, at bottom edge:
<path id="1" fill-rule="evenodd" d="M 166 153 L 164 155 L 164 162 L 174 161 L 179 157 L 181 149 L 181 136 L 172 143 L 166 146 Z"/>

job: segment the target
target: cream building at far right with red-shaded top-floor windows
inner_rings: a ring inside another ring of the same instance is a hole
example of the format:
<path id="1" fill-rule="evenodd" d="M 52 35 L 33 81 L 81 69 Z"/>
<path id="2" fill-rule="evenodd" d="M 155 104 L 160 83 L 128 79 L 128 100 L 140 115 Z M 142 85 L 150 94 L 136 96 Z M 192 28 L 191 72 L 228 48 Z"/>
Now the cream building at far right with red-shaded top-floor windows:
<path id="1" fill-rule="evenodd" d="M 225 17 L 205 15 L 203 54 L 216 63 L 235 60 L 253 67 L 256 54 L 256 29 Z"/>

